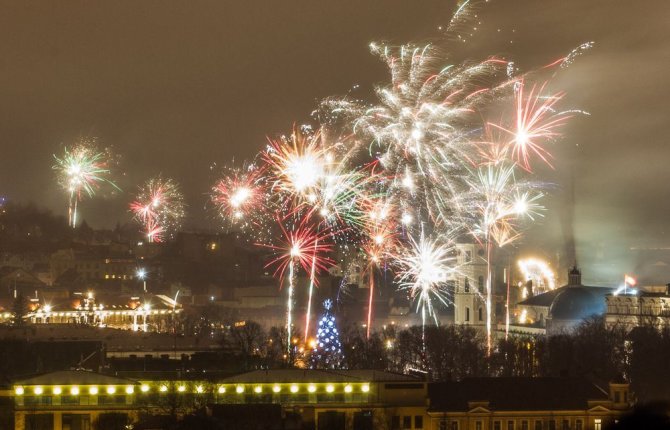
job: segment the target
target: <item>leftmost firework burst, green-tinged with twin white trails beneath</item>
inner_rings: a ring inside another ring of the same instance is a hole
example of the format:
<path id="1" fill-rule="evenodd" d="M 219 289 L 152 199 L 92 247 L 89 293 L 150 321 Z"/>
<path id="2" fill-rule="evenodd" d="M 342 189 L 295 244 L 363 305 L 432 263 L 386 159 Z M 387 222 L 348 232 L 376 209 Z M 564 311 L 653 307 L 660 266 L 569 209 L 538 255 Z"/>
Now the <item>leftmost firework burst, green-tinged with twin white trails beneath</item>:
<path id="1" fill-rule="evenodd" d="M 97 148 L 95 138 L 86 138 L 71 149 L 65 147 L 63 156 L 54 155 L 54 158 L 53 169 L 58 172 L 58 182 L 69 196 L 68 225 L 75 228 L 78 203 L 84 194 L 93 197 L 101 183 L 119 190 L 109 179 L 111 156 L 109 150 Z"/>

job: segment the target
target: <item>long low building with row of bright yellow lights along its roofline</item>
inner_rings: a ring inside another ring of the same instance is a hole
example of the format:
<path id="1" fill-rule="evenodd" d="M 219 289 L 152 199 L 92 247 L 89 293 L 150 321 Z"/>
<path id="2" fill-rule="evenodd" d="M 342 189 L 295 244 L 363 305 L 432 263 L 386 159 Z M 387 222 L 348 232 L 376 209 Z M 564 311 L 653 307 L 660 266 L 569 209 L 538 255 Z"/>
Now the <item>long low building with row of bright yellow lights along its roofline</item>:
<path id="1" fill-rule="evenodd" d="M 135 421 L 140 412 L 160 414 L 168 408 L 186 413 L 207 406 L 216 412 L 249 405 L 259 411 L 279 405 L 316 429 L 373 429 L 382 423 L 393 428 L 410 422 L 408 428 L 420 430 L 429 428 L 426 394 L 425 382 L 406 375 L 295 369 L 259 370 L 217 381 L 130 380 L 63 371 L 16 381 L 7 392 L 14 398 L 16 430 L 86 429 L 111 413 Z"/>

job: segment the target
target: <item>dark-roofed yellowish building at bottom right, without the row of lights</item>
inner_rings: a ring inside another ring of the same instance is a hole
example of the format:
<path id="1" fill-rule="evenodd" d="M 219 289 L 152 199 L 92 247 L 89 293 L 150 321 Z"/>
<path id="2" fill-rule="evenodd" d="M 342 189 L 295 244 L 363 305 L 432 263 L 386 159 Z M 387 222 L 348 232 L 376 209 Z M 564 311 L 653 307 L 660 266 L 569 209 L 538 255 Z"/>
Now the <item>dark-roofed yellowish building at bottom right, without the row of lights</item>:
<path id="1" fill-rule="evenodd" d="M 602 430 L 630 410 L 627 384 L 582 379 L 472 378 L 428 386 L 439 430 Z"/>

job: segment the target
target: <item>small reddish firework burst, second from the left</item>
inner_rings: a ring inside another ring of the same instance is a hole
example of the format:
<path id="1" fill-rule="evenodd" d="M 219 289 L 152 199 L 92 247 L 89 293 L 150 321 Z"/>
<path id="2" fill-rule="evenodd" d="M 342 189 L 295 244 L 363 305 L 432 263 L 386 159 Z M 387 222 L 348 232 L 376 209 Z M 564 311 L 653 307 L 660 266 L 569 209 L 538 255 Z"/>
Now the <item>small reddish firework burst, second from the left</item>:
<path id="1" fill-rule="evenodd" d="M 185 216 L 184 197 L 172 179 L 149 179 L 139 188 L 130 210 L 149 242 L 161 242 L 178 230 Z"/>

